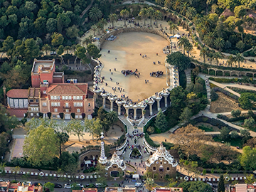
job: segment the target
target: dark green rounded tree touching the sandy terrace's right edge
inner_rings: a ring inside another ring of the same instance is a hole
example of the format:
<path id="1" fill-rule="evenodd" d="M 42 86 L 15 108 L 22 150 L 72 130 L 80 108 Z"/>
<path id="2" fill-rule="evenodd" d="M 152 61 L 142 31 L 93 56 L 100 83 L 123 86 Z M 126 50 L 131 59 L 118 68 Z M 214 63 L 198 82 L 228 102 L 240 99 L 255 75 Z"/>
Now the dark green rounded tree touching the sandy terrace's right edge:
<path id="1" fill-rule="evenodd" d="M 170 65 L 178 67 L 179 71 L 186 70 L 191 65 L 190 59 L 179 51 L 167 55 L 166 61 Z"/>

